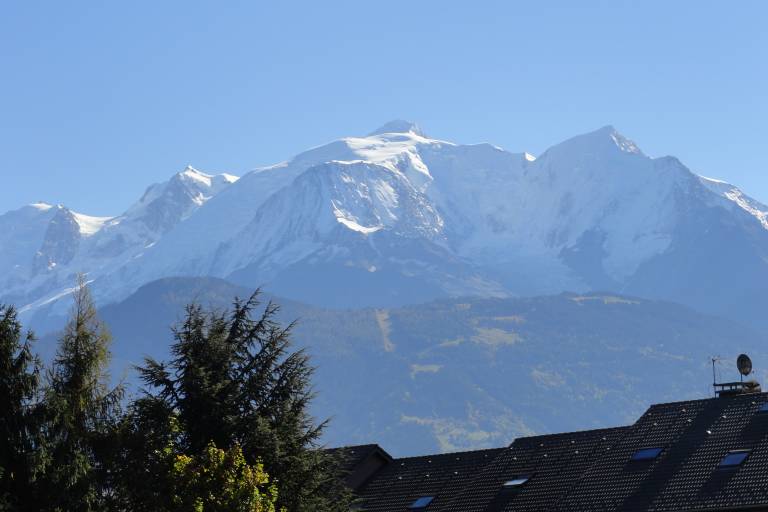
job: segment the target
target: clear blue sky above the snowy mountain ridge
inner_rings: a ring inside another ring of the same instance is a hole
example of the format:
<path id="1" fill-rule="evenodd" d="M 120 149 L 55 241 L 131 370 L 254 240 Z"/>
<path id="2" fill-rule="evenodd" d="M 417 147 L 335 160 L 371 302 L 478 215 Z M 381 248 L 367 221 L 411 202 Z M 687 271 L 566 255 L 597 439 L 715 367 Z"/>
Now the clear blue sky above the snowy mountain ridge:
<path id="1" fill-rule="evenodd" d="M 460 5 L 462 7 L 460 7 Z M 768 2 L 0 4 L 0 212 L 117 214 L 393 118 L 537 154 L 613 124 L 768 201 Z"/>

